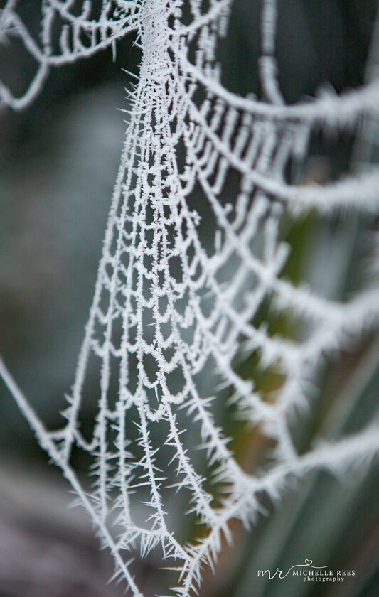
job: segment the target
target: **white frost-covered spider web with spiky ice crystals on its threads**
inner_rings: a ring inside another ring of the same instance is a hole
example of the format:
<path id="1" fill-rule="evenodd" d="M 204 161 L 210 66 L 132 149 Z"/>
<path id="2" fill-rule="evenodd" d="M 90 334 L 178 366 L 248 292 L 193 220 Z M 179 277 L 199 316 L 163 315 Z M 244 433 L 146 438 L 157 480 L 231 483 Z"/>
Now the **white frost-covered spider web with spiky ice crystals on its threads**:
<path id="1" fill-rule="evenodd" d="M 315 127 L 357 129 L 366 115 L 375 117 L 379 82 L 287 107 L 276 79 L 273 0 L 262 2 L 265 102 L 234 95 L 220 82 L 216 50 L 230 0 L 103 1 L 97 11 L 88 1 L 46 0 L 38 40 L 18 4 L 9 0 L 1 11 L 0 41 L 21 41 L 36 74 L 22 97 L 1 83 L 3 104 L 23 109 L 50 67 L 114 45 L 130 31 L 137 32 L 142 63 L 63 429 L 47 431 L 2 364 L 1 374 L 132 593 L 142 594 L 129 552 L 157 549 L 164 566 L 179 570 L 175 591 L 186 597 L 200 585 L 203 564 L 213 565 L 223 536 L 230 539 L 230 520 L 255 520 L 260 493 L 276 499 L 290 476 L 340 470 L 378 451 L 377 424 L 297 451 L 294 414 L 308 404 L 324 355 L 376 326 L 379 289 L 338 303 L 295 286 L 282 276 L 289 248 L 281 227 L 299 210 L 378 213 L 376 169 L 324 187 L 289 185 L 285 173 L 305 158 Z M 258 324 L 263 305 L 295 313 L 296 333 L 273 334 Z M 269 395 L 241 373 L 252 354 L 261 370 L 279 376 Z M 220 390 L 271 448 L 259 470 L 233 456 L 213 408 Z M 82 407 L 96 399 L 89 433 Z M 90 455 L 95 485 L 71 468 L 75 449 Z M 190 510 L 201 524 L 191 542 L 176 532 L 175 509 Z"/>

